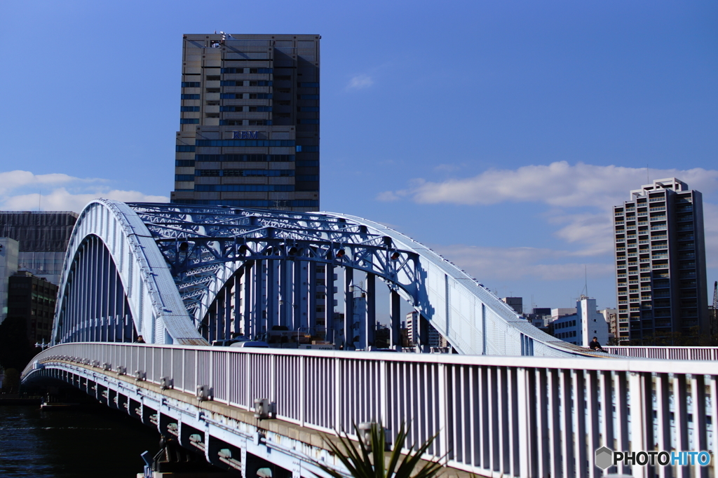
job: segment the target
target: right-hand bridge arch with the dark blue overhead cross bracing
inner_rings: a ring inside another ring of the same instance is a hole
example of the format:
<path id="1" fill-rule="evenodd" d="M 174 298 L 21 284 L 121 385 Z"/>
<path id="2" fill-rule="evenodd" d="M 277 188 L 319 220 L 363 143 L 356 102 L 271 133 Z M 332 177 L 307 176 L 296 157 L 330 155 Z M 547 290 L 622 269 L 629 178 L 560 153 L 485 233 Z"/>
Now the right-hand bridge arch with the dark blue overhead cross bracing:
<path id="1" fill-rule="evenodd" d="M 353 271 L 359 270 L 372 287 L 378 277 L 391 289 L 393 347 L 399 343 L 398 322 L 403 317 L 398 298 L 403 296 L 419 311 L 421 321 L 426 319 L 460 353 L 580 353 L 578 347 L 528 324 L 432 250 L 376 222 L 329 212 L 128 206 L 164 257 L 195 329 L 208 339 L 259 332 L 260 323 L 267 330 L 277 324 L 292 330 L 323 325 L 330 335 L 335 270 L 344 271 L 339 296 L 344 297 L 343 329 L 348 330 L 353 325 L 348 319 Z M 324 324 L 311 317 L 314 305 L 319 310 L 320 304 L 325 308 Z M 366 308 L 368 323 L 376 318 L 373 308 L 373 303 Z"/>

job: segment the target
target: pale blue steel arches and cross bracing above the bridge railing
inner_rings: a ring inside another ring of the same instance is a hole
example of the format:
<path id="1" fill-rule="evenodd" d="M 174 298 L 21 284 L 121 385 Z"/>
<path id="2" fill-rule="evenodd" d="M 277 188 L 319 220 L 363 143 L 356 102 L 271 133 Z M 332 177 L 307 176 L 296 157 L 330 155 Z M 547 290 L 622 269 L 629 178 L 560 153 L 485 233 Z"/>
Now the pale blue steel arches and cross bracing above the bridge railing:
<path id="1" fill-rule="evenodd" d="M 82 252 L 90 237 L 107 250 L 103 265 Z M 107 276 L 111 267 L 116 277 Z M 87 273 L 78 281 L 73 271 Z M 385 313 L 377 278 L 387 286 Z M 200 344 L 279 327 L 351 350 L 355 332 L 345 331 L 359 327 L 359 346 L 370 349 L 377 319 L 388 317 L 389 347 L 400 350 L 403 299 L 419 312 L 423 350 L 432 324 L 465 354 L 590 355 L 531 326 L 406 235 L 332 212 L 94 200 L 73 230 L 55 323 L 74 321 L 84 330 L 111 322 L 116 310 L 91 304 L 93 294 L 112 286 L 126 297 L 123 317 L 134 325 L 133 336 L 149 343 Z M 78 310 L 85 314 L 79 322 L 68 316 Z M 57 329 L 54 343 L 110 337 L 79 329 Z"/>

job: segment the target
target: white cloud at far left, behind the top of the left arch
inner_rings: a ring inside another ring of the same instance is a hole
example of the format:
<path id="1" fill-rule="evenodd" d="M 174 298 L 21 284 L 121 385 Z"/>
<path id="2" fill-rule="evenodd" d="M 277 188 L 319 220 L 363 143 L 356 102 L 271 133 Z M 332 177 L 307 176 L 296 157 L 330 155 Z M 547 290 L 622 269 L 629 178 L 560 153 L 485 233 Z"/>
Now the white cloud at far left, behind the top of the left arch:
<path id="1" fill-rule="evenodd" d="M 75 211 L 97 197 L 118 201 L 168 202 L 165 196 L 138 191 L 110 189 L 109 181 L 78 178 L 67 174 L 32 174 L 28 171 L 0 172 L 0 210 Z"/>

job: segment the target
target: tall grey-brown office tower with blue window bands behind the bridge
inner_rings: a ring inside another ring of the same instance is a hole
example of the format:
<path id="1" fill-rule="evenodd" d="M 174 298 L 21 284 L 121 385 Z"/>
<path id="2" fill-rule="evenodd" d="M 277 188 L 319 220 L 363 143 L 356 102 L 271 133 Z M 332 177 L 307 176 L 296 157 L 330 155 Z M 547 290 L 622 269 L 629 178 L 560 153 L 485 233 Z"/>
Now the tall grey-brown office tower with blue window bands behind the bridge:
<path id="1" fill-rule="evenodd" d="M 183 37 L 172 202 L 319 210 L 319 42 Z"/>

